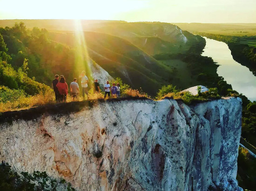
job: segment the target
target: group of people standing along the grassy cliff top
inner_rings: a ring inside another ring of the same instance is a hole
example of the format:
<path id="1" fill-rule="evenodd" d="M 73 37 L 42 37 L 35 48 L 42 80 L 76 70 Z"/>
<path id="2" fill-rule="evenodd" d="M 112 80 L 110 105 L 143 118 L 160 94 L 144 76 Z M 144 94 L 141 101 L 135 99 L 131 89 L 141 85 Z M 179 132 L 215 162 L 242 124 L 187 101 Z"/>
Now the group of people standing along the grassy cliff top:
<path id="1" fill-rule="evenodd" d="M 85 75 L 85 71 L 81 72 L 81 75 L 79 76 L 81 78 L 81 87 L 82 87 L 82 96 L 85 98 L 85 95 L 88 96 L 88 77 Z M 60 80 L 59 80 L 60 79 Z M 55 79 L 53 80 L 52 83 L 54 93 L 55 93 L 55 99 L 57 102 L 66 102 L 67 100 L 67 94 L 68 94 L 68 85 L 66 83 L 65 77 L 63 75 L 55 75 Z M 73 98 L 73 101 L 79 97 L 80 94 L 80 89 L 79 85 L 77 83 L 77 79 L 74 78 L 73 82 L 70 83 L 70 94 Z M 95 79 L 93 83 L 93 88 L 94 88 L 94 94 L 100 93 L 100 84 L 98 83 L 98 79 Z M 112 87 L 109 84 L 109 81 L 104 85 L 105 89 L 105 95 L 110 97 L 110 91 L 112 96 L 120 96 L 120 84 L 117 83 L 115 86 L 115 83 L 113 83 Z"/>

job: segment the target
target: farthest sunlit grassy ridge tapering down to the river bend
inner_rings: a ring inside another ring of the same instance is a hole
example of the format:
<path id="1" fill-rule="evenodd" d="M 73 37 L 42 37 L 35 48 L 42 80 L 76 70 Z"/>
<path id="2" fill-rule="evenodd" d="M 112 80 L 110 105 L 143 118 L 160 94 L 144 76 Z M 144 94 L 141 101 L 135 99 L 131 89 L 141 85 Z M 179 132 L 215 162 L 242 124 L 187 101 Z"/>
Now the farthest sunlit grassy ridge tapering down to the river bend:
<path id="1" fill-rule="evenodd" d="M 188 43 L 185 44 L 180 28 L 169 23 L 101 23 L 90 24 L 84 29 L 127 39 L 149 55 L 164 52 L 183 53 L 197 41 L 191 33 L 183 32 L 188 38 Z"/>

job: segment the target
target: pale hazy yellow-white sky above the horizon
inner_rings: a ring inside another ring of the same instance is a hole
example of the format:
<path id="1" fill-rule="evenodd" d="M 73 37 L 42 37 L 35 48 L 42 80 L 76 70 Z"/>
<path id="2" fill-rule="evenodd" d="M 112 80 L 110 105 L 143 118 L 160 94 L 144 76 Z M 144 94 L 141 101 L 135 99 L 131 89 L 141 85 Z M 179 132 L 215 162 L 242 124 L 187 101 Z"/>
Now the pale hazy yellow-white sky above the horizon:
<path id="1" fill-rule="evenodd" d="M 0 0 L 0 19 L 256 23 L 256 0 Z"/>

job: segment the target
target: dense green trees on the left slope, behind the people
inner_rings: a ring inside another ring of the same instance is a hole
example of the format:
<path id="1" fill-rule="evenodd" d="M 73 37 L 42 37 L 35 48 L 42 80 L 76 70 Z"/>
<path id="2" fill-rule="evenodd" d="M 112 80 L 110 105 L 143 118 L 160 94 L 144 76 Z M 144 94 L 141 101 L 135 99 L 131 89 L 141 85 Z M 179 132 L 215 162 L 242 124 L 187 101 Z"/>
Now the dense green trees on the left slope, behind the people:
<path id="1" fill-rule="evenodd" d="M 11 64 L 14 70 L 22 68 L 28 77 L 36 76 L 38 82 L 47 85 L 51 85 L 55 74 L 64 74 L 67 81 L 78 75 L 72 70 L 74 49 L 49 40 L 45 29 L 29 31 L 24 23 L 16 23 L 12 28 L 0 28 L 0 33 L 7 47 L 5 53 L 11 57 L 11 60 L 2 60 Z"/>

